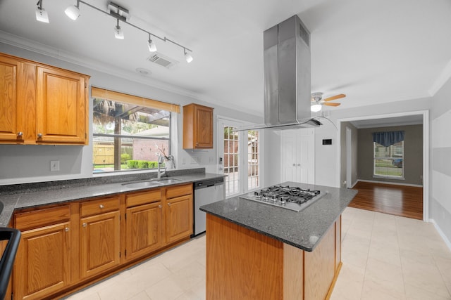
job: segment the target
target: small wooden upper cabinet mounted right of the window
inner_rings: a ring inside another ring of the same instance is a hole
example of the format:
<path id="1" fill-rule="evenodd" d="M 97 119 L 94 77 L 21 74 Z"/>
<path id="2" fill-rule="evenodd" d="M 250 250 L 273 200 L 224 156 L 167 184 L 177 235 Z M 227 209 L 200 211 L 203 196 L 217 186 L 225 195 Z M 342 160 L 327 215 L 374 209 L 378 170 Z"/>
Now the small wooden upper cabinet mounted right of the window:
<path id="1" fill-rule="evenodd" d="M 183 106 L 183 149 L 213 148 L 213 108 L 191 103 Z"/>

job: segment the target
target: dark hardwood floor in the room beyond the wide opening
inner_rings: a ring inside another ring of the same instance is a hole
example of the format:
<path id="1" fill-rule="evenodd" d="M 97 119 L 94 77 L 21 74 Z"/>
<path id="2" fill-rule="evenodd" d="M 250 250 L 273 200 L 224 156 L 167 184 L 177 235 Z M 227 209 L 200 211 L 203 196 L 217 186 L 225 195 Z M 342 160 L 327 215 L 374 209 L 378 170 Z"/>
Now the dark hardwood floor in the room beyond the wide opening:
<path id="1" fill-rule="evenodd" d="M 423 219 L 423 188 L 359 181 L 353 189 L 359 193 L 349 207 Z"/>

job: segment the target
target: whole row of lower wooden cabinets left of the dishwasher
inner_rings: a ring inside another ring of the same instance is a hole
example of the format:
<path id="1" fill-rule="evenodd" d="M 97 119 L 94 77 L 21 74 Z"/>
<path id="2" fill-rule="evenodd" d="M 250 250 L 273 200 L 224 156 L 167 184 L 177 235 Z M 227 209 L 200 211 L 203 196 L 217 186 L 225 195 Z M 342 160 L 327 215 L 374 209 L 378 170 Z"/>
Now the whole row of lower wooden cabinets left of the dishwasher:
<path id="1" fill-rule="evenodd" d="M 173 247 L 192 218 L 192 184 L 19 211 L 14 299 L 58 298 Z"/>

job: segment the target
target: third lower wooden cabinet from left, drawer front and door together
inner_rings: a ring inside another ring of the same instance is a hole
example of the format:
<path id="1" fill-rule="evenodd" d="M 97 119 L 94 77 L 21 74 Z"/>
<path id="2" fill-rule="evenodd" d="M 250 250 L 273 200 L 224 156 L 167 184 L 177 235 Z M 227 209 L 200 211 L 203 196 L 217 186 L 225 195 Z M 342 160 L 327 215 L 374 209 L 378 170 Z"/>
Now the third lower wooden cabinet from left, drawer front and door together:
<path id="1" fill-rule="evenodd" d="M 126 195 L 126 248 L 129 261 L 144 256 L 162 246 L 162 189 Z"/>

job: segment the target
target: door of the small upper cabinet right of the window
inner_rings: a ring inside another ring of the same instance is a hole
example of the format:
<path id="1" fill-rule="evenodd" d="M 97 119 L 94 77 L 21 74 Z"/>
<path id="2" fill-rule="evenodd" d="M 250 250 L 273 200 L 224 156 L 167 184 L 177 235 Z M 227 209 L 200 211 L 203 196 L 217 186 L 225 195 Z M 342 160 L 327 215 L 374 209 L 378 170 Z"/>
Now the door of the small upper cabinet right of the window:
<path id="1" fill-rule="evenodd" d="M 194 107 L 194 148 L 213 148 L 213 110 Z"/>

